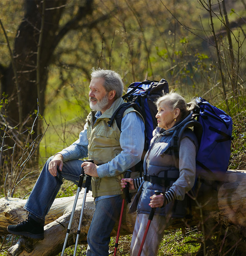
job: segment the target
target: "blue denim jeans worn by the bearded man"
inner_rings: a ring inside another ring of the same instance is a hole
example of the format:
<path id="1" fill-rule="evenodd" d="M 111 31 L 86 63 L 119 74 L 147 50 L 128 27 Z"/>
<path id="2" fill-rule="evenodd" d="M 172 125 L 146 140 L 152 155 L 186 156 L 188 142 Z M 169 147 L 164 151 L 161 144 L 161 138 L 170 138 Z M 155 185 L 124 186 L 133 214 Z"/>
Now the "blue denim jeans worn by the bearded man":
<path id="1" fill-rule="evenodd" d="M 62 185 L 62 178 L 78 184 L 81 174 L 81 160 L 70 160 L 63 163 L 62 172 L 53 177 L 49 170 L 51 156 L 45 163 L 34 188 L 27 199 L 24 209 L 44 220 Z M 88 248 L 86 256 L 108 256 L 110 233 L 120 215 L 121 195 L 96 201 L 96 209 L 87 234 Z"/>

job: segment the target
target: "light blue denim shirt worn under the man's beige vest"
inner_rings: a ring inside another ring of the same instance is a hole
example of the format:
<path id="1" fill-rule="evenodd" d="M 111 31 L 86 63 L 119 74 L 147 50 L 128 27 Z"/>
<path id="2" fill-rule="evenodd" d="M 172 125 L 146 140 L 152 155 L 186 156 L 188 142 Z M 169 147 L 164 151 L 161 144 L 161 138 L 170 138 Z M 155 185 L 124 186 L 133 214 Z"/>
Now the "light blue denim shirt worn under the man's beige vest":
<path id="1" fill-rule="evenodd" d="M 101 112 L 98 111 L 95 115 L 98 118 Z M 87 139 L 87 123 L 84 130 L 80 132 L 79 139 L 72 145 L 63 149 L 60 154 L 63 156 L 63 161 L 82 159 L 88 156 L 88 139 Z M 138 128 L 136 130 L 136 127 Z M 145 126 L 141 117 L 136 112 L 129 112 L 122 118 L 120 145 L 122 151 L 119 155 L 105 163 L 97 166 L 97 175 L 100 178 L 111 177 L 114 175 L 114 170 L 125 172 L 129 165 L 137 159 L 141 159 L 144 149 L 144 130 Z M 127 166 L 127 167 L 126 167 Z M 109 197 L 109 196 L 105 196 Z M 99 198 L 98 198 L 99 199 Z M 102 199 L 102 197 L 100 197 Z"/>

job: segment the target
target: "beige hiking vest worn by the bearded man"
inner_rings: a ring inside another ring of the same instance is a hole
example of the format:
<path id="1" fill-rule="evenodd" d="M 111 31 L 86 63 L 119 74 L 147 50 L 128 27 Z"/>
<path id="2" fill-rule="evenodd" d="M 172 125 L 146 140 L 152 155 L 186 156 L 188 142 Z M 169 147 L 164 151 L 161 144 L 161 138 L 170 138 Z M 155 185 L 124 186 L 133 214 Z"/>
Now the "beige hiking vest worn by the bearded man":
<path id="1" fill-rule="evenodd" d="M 122 103 L 124 101 L 121 97 L 115 100 L 113 105 L 97 118 L 94 125 L 96 111 L 91 111 L 87 116 L 88 158 L 94 160 L 96 165 L 108 163 L 122 151 L 120 146 L 121 132 L 116 121 L 113 122 L 111 127 L 108 127 L 107 123 Z M 132 111 L 135 111 L 134 108 L 127 108 L 124 116 Z M 117 170 L 115 170 L 115 173 L 116 176 L 114 177 L 92 177 L 93 197 L 122 193 L 120 182 L 124 173 L 117 174 Z"/>

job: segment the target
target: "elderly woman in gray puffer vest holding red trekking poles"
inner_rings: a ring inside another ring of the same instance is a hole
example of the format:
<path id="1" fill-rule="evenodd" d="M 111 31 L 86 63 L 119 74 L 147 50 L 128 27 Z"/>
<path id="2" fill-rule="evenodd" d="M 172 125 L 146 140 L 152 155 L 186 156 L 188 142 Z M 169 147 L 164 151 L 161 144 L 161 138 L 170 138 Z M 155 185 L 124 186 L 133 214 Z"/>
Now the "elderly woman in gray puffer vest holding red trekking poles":
<path id="1" fill-rule="evenodd" d="M 122 188 L 125 188 L 126 182 L 129 182 L 129 189 L 136 189 L 141 184 L 130 208 L 130 212 L 137 210 L 131 242 L 132 256 L 139 253 L 151 208 L 156 208 L 156 212 L 141 255 L 157 255 L 164 230 L 171 224 L 171 218 L 184 217 L 186 214 L 185 194 L 192 189 L 196 176 L 198 142 L 192 130 L 187 128 L 183 133 L 179 159 L 173 157 L 170 148 L 175 126 L 186 122 L 185 118 L 195 103 L 186 104 L 181 95 L 170 92 L 160 97 L 156 105 L 158 127 L 153 131 L 153 139 L 145 155 L 144 178 L 121 180 Z M 162 193 L 155 195 L 155 190 L 161 190 Z"/>

